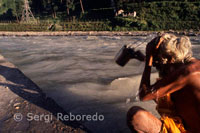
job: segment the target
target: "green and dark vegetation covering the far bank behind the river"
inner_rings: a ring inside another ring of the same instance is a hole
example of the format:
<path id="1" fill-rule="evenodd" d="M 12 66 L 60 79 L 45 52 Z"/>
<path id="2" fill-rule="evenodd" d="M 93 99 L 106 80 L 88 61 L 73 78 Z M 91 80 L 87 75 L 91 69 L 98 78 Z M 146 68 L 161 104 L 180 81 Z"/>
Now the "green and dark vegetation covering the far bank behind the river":
<path id="1" fill-rule="evenodd" d="M 23 0 L 1 0 L 0 7 L 3 1 L 7 10 L 0 8 L 0 31 L 200 30 L 199 0 L 82 0 L 83 8 L 81 0 L 30 0 L 32 22 L 19 21 Z M 116 15 L 119 10 L 123 13 Z M 129 15 L 134 11 L 136 16 Z"/>

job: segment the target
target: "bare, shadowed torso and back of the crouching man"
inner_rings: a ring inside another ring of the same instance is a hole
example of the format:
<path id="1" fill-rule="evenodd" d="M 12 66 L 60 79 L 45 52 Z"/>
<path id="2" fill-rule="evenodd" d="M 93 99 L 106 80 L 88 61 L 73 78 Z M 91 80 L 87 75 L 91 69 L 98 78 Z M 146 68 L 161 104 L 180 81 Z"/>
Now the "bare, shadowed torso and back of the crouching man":
<path id="1" fill-rule="evenodd" d="M 189 131 L 200 131 L 200 61 L 186 66 L 190 78 L 188 84 L 171 94 L 177 115 L 180 115 Z"/>

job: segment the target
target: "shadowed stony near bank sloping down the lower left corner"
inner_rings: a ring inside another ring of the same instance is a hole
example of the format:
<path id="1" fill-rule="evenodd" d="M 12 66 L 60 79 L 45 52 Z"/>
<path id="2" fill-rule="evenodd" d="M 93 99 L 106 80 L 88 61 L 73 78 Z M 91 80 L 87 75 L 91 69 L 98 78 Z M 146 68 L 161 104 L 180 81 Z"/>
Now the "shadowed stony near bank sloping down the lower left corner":
<path id="1" fill-rule="evenodd" d="M 89 132 L 76 121 L 58 120 L 58 113 L 68 115 L 0 55 L 0 132 Z"/>

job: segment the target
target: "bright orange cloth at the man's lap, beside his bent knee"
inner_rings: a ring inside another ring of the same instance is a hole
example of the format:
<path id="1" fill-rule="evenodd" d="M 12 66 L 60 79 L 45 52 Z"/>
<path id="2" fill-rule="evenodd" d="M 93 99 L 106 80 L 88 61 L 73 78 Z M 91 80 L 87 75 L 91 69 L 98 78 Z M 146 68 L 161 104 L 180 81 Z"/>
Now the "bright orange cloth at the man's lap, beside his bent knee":
<path id="1" fill-rule="evenodd" d="M 179 117 L 172 118 L 163 115 L 161 121 L 163 122 L 161 133 L 189 133 L 185 130 Z"/>

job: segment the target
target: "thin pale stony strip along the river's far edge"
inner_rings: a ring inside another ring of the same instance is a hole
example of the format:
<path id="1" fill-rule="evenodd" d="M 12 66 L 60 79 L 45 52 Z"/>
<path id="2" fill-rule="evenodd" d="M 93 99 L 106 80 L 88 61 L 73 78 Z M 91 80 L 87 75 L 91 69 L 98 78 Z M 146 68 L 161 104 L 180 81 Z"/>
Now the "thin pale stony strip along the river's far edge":
<path id="1" fill-rule="evenodd" d="M 157 34 L 160 31 L 66 31 L 66 32 L 8 32 L 1 31 L 0 36 L 146 36 Z M 197 36 L 200 32 L 194 31 L 162 31 L 179 35 Z"/>

